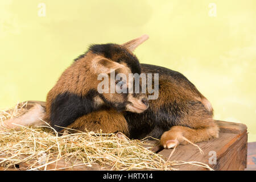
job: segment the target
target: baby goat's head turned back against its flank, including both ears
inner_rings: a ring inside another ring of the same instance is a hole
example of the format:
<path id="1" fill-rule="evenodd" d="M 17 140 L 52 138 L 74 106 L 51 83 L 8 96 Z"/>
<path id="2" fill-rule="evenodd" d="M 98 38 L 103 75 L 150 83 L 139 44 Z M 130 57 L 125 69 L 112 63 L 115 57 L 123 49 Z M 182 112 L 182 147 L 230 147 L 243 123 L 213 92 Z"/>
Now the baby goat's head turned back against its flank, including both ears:
<path id="1" fill-rule="evenodd" d="M 148 108 L 146 93 L 136 91 L 133 75 L 141 74 L 141 66 L 133 54 L 139 44 L 148 39 L 147 35 L 122 45 L 97 44 L 90 46 L 86 53 L 90 74 L 97 80 L 97 103 L 104 103 L 120 111 L 142 113 Z M 97 79 L 96 79 L 97 78 Z M 138 83 L 138 82 L 137 82 Z M 139 80 L 139 88 L 141 81 Z M 94 88 L 96 89 L 96 88 Z"/>

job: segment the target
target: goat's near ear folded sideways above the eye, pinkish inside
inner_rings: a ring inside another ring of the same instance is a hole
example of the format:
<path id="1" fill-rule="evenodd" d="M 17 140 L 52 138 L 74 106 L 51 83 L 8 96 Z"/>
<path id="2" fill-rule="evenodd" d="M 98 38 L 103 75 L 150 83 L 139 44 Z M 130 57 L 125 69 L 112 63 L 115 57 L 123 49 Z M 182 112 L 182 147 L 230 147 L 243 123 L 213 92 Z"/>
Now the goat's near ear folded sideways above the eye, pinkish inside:
<path id="1" fill-rule="evenodd" d="M 119 69 L 119 68 L 124 68 L 125 65 L 119 64 L 115 61 L 106 59 L 105 57 L 102 56 L 97 56 L 92 60 L 92 71 L 93 73 L 110 73 L 110 69 Z"/>

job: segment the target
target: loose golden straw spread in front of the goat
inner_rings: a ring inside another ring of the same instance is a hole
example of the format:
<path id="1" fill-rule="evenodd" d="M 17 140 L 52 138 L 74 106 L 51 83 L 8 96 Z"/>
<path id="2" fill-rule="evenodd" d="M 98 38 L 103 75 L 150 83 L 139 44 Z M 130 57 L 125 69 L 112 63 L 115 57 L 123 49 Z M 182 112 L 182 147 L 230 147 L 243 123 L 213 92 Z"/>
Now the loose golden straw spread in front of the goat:
<path id="1" fill-rule="evenodd" d="M 23 103 L 14 109 L 0 111 L 0 122 L 23 114 L 26 105 Z M 121 140 L 115 134 L 93 132 L 58 137 L 46 126 L 36 129 L 22 127 L 19 131 L 1 128 L 0 166 L 8 169 L 20 164 L 27 170 L 90 169 L 95 166 L 111 170 L 174 170 L 174 166 L 187 164 L 164 160 L 162 155 L 150 151 L 153 146 L 143 147 L 144 142 L 146 140 Z M 65 165 L 60 166 L 60 163 Z M 209 168 L 203 163 L 188 164 Z"/>

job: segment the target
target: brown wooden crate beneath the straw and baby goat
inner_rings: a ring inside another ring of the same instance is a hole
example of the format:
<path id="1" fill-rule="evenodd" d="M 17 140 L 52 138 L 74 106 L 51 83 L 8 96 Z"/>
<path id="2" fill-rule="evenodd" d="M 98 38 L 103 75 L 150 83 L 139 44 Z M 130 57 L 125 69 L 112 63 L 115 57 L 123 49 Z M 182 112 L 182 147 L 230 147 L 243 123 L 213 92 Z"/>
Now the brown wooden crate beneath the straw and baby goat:
<path id="1" fill-rule="evenodd" d="M 28 101 L 27 109 L 30 109 L 35 103 L 44 105 L 45 102 Z M 184 162 L 202 162 L 208 164 L 214 170 L 244 170 L 247 164 L 247 127 L 241 123 L 216 121 L 220 127 L 220 137 L 211 139 L 208 142 L 197 143 L 204 151 L 204 155 L 200 154 L 197 147 L 192 144 L 185 146 L 177 146 L 170 160 L 181 160 Z M 146 147 L 146 146 L 145 146 Z M 163 155 L 165 160 L 170 156 L 172 149 L 163 149 L 158 144 L 152 148 L 152 151 Z M 216 154 L 216 163 L 213 157 Z M 71 166 L 72 161 L 65 162 L 59 160 L 56 163 L 49 164 L 47 169 L 63 168 Z M 26 169 L 27 164 L 21 163 L 18 166 L 19 170 Z M 175 166 L 180 170 L 207 170 L 206 168 L 184 164 Z M 2 168 L 3 169 L 3 168 Z M 76 166 L 66 168 L 65 170 L 108 170 L 111 167 L 100 167 L 97 164 L 92 167 Z M 1 168 L 0 168 L 1 170 Z M 10 170 L 12 170 L 10 168 Z M 146 169 L 145 169 L 146 170 Z"/>

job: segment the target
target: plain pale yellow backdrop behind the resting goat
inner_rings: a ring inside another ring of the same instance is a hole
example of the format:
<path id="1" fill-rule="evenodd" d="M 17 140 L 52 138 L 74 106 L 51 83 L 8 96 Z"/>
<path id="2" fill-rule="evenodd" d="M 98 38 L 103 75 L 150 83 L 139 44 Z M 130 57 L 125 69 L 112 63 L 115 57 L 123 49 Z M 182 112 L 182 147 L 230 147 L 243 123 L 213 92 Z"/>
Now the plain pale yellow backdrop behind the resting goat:
<path id="1" fill-rule="evenodd" d="M 38 16 L 38 4 L 46 16 Z M 209 16 L 209 3 L 217 16 Z M 216 119 L 245 123 L 256 141 L 256 1 L 0 1 L 0 108 L 46 99 L 92 43 L 148 34 L 141 63 L 183 73 Z"/>

